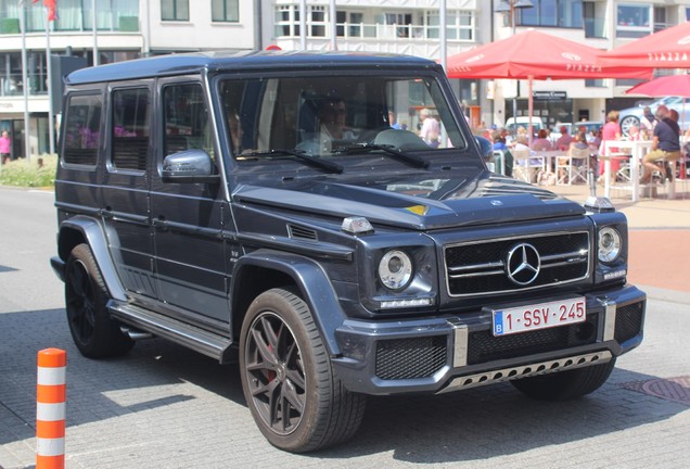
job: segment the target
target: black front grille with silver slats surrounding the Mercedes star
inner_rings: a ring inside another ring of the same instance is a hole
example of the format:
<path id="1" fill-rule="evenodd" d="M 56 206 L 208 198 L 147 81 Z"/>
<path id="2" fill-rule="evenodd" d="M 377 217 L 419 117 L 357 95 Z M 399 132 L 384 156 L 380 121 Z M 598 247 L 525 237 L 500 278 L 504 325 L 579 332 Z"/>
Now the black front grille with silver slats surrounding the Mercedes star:
<path id="1" fill-rule="evenodd" d="M 539 274 L 527 283 L 508 275 L 508 253 L 525 243 L 537 251 Z M 589 271 L 589 233 L 558 233 L 488 240 L 445 248 L 446 284 L 450 296 L 502 293 L 574 282 Z"/>

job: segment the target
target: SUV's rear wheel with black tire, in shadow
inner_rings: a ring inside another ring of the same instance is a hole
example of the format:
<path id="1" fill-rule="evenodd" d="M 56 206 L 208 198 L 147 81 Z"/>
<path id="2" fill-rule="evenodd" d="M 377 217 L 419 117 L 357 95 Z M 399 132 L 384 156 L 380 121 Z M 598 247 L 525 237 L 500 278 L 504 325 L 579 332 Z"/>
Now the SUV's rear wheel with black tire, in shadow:
<path id="1" fill-rule="evenodd" d="M 119 329 L 119 322 L 111 318 L 108 300 L 91 249 L 78 244 L 69 253 L 65 268 L 65 305 L 72 339 L 88 358 L 119 356 L 135 345 Z"/>

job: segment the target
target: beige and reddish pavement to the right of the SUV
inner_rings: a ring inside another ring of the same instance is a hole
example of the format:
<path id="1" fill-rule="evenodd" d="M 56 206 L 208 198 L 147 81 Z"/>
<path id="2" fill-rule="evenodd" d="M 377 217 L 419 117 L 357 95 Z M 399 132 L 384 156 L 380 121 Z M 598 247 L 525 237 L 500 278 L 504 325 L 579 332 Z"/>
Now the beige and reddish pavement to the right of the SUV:
<path id="1" fill-rule="evenodd" d="M 552 191 L 577 202 L 590 194 L 585 185 L 552 186 Z M 598 188 L 598 195 L 602 192 Z M 631 202 L 621 191 L 612 191 L 613 205 L 628 219 L 631 283 L 651 287 L 656 295 L 669 299 L 674 293 L 690 292 L 690 185 L 677 181 L 675 199 L 663 188 L 657 197 Z M 656 291 L 660 289 L 660 291 Z M 687 295 L 682 297 L 688 301 Z"/>

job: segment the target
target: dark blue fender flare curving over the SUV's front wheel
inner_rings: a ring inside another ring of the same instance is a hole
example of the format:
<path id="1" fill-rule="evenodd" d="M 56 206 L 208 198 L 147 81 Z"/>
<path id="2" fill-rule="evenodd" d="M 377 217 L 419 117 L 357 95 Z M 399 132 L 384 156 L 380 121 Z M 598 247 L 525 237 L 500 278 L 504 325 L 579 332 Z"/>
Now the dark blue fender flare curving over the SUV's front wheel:
<path id="1" fill-rule="evenodd" d="M 309 305 L 314 321 L 321 332 L 329 353 L 332 356 L 341 354 L 335 340 L 335 330 L 343 325 L 346 315 L 321 265 L 297 254 L 271 250 L 254 251 L 238 259 L 231 291 L 237 291 L 235 287 L 242 278 L 243 270 L 252 267 L 276 270 L 291 277 L 299 289 L 303 300 Z M 237 300 L 233 303 L 233 310 L 237 310 L 235 306 Z"/>

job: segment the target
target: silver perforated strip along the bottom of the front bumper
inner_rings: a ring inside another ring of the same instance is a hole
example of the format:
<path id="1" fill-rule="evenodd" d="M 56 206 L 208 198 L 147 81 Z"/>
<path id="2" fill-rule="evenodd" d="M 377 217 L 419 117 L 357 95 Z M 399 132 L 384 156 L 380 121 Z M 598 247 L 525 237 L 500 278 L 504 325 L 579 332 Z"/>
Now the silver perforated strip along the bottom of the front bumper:
<path id="1" fill-rule="evenodd" d="M 604 364 L 609 363 L 611 358 L 613 358 L 611 352 L 601 351 L 458 377 L 450 381 L 450 384 L 438 391 L 436 394 L 459 391 L 461 389 L 476 388 L 480 385 L 491 384 L 501 381 L 510 381 L 520 378 L 528 378 L 538 375 L 546 375 L 550 372 L 565 371 L 568 369 Z"/>

